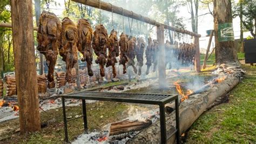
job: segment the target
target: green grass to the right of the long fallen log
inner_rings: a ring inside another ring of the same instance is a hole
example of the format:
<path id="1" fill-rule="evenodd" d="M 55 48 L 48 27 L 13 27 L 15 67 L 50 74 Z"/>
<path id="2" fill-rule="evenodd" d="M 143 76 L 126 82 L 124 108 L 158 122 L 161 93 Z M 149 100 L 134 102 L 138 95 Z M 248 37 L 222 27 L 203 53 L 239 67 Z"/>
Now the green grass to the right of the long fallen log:
<path id="1" fill-rule="evenodd" d="M 256 142 L 256 67 L 243 68 L 247 75 L 228 93 L 229 102 L 204 112 L 188 131 L 186 143 Z"/>

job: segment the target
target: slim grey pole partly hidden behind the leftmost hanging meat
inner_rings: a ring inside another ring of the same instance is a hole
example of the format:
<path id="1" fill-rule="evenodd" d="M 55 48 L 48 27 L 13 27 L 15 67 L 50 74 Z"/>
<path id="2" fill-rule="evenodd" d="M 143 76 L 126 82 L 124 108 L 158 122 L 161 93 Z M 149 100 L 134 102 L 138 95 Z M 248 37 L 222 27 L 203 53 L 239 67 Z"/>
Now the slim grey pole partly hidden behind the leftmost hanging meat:
<path id="1" fill-rule="evenodd" d="M 39 26 L 39 18 L 41 15 L 41 0 L 35 0 L 36 26 Z M 40 75 L 44 74 L 44 57 L 40 54 Z"/>

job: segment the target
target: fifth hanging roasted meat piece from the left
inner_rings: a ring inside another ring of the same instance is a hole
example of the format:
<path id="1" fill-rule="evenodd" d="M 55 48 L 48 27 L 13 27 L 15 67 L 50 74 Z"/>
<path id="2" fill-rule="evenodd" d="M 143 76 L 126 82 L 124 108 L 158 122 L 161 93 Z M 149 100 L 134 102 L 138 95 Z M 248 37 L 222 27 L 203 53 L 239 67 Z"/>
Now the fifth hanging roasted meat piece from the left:
<path id="1" fill-rule="evenodd" d="M 114 31 L 114 29 L 111 31 L 109 36 L 109 41 L 107 43 L 109 47 L 109 55 L 107 55 L 106 67 L 112 66 L 113 77 L 116 77 L 117 71 L 114 65 L 117 63 L 116 57 L 119 55 L 119 47 L 118 47 L 117 31 Z"/>

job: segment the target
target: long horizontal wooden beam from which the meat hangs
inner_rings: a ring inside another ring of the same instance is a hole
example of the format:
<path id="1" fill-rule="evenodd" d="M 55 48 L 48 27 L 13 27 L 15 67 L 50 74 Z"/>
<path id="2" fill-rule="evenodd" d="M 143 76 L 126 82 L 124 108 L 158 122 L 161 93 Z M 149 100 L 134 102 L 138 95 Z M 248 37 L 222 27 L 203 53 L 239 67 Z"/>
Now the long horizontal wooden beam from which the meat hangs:
<path id="1" fill-rule="evenodd" d="M 112 8 L 113 8 L 113 13 L 117 13 L 118 15 L 123 15 L 123 13 L 124 13 L 125 17 L 137 19 L 137 20 L 143 21 L 144 23 L 147 23 L 147 24 L 156 25 L 156 26 L 163 25 L 165 29 L 168 29 L 168 30 L 171 30 L 174 32 L 184 33 L 184 34 L 192 35 L 192 36 L 198 37 L 198 38 L 201 37 L 201 35 L 198 33 L 194 33 L 194 32 L 190 32 L 187 30 L 183 30 L 181 28 L 161 24 L 161 23 L 157 22 L 156 20 L 150 19 L 148 17 L 143 17 L 142 15 L 138 15 L 137 13 L 134 13 L 132 11 L 112 5 L 110 3 L 105 3 L 105 2 L 102 2 L 99 0 L 72 0 L 72 1 L 81 3 L 81 4 L 85 4 L 85 5 L 89 5 L 94 8 L 97 8 L 97 9 L 99 9 L 99 3 L 100 3 L 100 9 L 102 9 L 102 10 L 112 12 Z"/>

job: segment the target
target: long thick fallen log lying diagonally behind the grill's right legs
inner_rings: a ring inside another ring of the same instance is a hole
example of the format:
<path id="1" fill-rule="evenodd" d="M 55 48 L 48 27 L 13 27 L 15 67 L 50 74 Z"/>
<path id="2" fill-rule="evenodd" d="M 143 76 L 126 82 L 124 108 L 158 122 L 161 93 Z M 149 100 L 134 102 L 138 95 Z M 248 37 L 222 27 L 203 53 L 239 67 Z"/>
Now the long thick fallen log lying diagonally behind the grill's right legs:
<path id="1" fill-rule="evenodd" d="M 242 75 L 241 70 L 235 70 L 233 74 L 228 75 L 224 81 L 217 83 L 210 90 L 191 95 L 179 106 L 179 124 L 180 134 L 183 134 L 197 120 L 197 118 L 210 106 L 219 96 L 225 95 L 239 83 Z M 174 114 L 166 116 L 167 143 L 174 143 L 176 135 L 170 136 L 176 127 Z M 159 143 L 160 142 L 160 121 L 143 129 L 138 135 L 134 136 L 127 143 Z"/>

